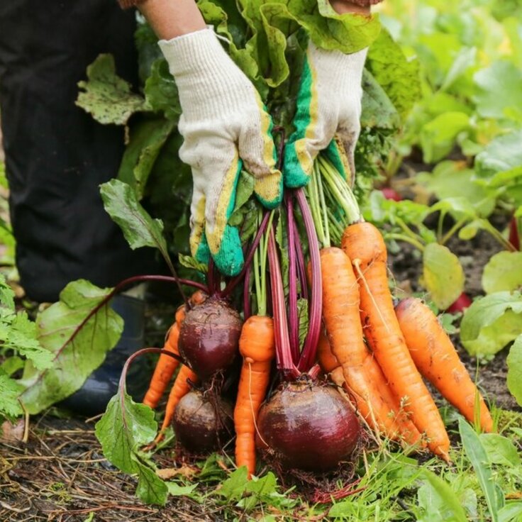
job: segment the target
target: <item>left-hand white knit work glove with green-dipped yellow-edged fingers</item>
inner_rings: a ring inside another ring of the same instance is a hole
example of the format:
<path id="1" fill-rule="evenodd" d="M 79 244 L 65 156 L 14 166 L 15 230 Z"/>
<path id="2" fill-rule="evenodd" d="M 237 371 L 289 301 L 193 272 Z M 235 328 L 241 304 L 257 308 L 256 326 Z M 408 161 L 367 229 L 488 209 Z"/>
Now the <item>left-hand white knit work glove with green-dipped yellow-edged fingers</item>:
<path id="1" fill-rule="evenodd" d="M 263 205 L 274 208 L 282 199 L 272 119 L 211 28 L 160 40 L 160 48 L 182 106 L 179 157 L 191 166 L 194 178 L 192 255 L 207 262 L 210 254 L 221 272 L 238 274 L 243 250 L 228 218 L 242 164 L 254 177 L 255 194 Z"/>

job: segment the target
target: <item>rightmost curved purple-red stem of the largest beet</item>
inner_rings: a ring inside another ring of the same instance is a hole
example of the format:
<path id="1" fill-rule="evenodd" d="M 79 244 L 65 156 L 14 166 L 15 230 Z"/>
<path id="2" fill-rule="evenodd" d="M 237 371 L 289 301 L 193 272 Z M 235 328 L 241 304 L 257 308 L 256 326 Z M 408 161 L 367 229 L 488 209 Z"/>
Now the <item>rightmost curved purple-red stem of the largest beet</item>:
<path id="1" fill-rule="evenodd" d="M 323 309 L 323 291 L 321 280 L 321 260 L 319 257 L 319 242 L 317 239 L 316 228 L 313 226 L 313 218 L 310 207 L 306 201 L 304 190 L 296 191 L 297 202 L 303 215 L 304 228 L 308 238 L 312 284 L 311 284 L 311 303 L 309 313 L 308 335 L 304 341 L 303 351 L 297 367 L 301 372 L 308 372 L 316 361 L 317 342 L 321 331 L 321 311 Z"/>

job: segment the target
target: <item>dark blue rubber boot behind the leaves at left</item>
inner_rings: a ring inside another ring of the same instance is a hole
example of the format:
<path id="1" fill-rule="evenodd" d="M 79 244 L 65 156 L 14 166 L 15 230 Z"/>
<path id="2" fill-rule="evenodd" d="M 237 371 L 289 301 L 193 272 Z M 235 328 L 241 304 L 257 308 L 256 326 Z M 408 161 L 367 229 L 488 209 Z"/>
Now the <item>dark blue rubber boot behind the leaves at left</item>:
<path id="1" fill-rule="evenodd" d="M 84 385 L 57 406 L 83 416 L 103 413 L 107 403 L 118 391 L 121 370 L 129 355 L 144 348 L 145 303 L 142 299 L 118 295 L 111 308 L 123 318 L 124 326 L 118 344 L 110 350 L 102 365 L 87 378 Z M 150 382 L 148 365 L 136 360 L 127 372 L 127 392 L 135 401 L 141 401 Z"/>

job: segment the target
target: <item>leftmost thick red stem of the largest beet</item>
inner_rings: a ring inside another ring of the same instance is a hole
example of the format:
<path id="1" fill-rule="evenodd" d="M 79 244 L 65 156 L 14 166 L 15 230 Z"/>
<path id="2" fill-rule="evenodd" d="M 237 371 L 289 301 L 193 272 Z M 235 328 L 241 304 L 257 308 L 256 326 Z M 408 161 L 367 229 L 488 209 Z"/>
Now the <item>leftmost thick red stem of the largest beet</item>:
<path id="1" fill-rule="evenodd" d="M 297 370 L 291 357 L 283 280 L 281 267 L 279 267 L 279 259 L 277 257 L 277 246 L 273 227 L 270 227 L 270 235 L 268 237 L 268 262 L 270 265 L 270 282 L 272 287 L 277 368 L 282 372 L 284 379 L 293 380 L 299 377 L 300 372 Z"/>

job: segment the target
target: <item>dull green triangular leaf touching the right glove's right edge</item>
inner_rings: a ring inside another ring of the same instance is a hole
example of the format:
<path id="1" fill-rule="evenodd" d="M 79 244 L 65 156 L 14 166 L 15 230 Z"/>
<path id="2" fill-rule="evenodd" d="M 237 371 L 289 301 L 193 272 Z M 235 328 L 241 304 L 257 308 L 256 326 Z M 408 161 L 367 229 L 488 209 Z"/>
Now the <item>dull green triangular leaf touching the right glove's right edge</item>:
<path id="1" fill-rule="evenodd" d="M 372 73 L 366 69 L 362 73 L 362 127 L 396 129 L 400 125 L 399 113 L 391 103 L 384 89 L 377 83 Z"/>

